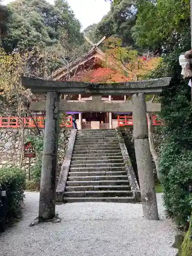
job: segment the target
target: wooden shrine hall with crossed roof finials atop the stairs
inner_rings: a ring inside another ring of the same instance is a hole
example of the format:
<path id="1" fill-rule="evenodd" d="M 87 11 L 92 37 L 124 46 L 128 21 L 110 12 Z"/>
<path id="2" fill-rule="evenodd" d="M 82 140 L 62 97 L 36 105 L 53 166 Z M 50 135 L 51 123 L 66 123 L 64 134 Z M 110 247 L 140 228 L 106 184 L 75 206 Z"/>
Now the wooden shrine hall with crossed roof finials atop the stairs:
<path id="1" fill-rule="evenodd" d="M 93 42 L 84 36 L 84 38 L 92 46 L 91 50 L 83 55 L 82 57 L 77 58 L 73 63 L 69 63 L 68 66 L 62 67 L 59 70 L 55 71 L 51 76 L 48 77 L 49 80 L 54 81 L 76 81 L 75 78 L 81 72 L 86 72 L 87 70 L 98 70 L 103 69 L 102 62 L 106 61 L 106 56 L 103 51 L 101 51 L 98 46 L 105 40 L 105 36 L 97 43 Z M 110 66 L 113 66 L 113 62 L 110 62 Z M 122 66 L 122 70 L 125 68 Z M 122 74 L 120 74 L 122 76 Z M 124 76 L 122 81 L 128 81 Z M 108 84 L 105 84 L 106 88 Z M 79 95 L 65 95 L 62 98 L 70 98 L 68 102 L 91 102 L 91 94 L 79 94 Z M 126 101 L 126 95 L 103 95 L 101 102 L 117 102 L 122 103 Z M 115 129 L 117 126 L 121 125 L 133 125 L 132 113 L 112 113 L 112 112 L 78 112 L 72 111 L 66 112 L 67 114 L 73 114 L 76 117 L 77 128 L 81 129 Z M 154 118 L 154 125 L 158 125 Z M 156 124 L 155 124 L 156 123 Z"/>

